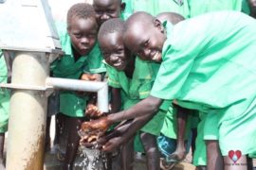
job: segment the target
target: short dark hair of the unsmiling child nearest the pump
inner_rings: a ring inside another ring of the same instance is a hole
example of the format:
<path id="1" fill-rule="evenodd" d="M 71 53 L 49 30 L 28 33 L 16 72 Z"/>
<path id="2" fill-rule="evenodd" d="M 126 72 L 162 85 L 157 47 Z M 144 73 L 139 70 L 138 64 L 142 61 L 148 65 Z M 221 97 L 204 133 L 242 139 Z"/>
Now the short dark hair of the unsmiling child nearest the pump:
<path id="1" fill-rule="evenodd" d="M 96 13 L 92 5 L 87 3 L 77 3 L 68 9 L 66 15 L 67 26 L 71 23 L 73 17 L 79 18 L 96 18 Z"/>

